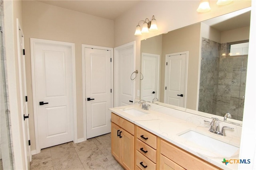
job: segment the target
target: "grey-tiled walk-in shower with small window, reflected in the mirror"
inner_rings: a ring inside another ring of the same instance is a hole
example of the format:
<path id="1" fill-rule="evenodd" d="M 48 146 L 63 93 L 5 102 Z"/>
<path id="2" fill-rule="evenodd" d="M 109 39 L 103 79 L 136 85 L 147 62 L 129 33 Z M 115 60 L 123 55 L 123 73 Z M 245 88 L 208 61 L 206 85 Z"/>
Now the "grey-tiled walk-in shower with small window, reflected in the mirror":
<path id="1" fill-rule="evenodd" d="M 248 41 L 217 43 L 202 38 L 198 111 L 242 121 Z"/>

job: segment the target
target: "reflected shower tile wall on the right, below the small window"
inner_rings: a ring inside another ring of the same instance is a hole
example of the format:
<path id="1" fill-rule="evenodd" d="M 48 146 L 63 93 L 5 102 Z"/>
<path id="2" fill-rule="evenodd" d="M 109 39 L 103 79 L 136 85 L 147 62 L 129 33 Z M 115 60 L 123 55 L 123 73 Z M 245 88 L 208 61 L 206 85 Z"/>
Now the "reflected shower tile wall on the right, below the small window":
<path id="1" fill-rule="evenodd" d="M 248 57 L 226 57 L 227 53 L 227 43 L 222 43 L 216 115 L 230 113 L 233 119 L 242 121 Z"/>

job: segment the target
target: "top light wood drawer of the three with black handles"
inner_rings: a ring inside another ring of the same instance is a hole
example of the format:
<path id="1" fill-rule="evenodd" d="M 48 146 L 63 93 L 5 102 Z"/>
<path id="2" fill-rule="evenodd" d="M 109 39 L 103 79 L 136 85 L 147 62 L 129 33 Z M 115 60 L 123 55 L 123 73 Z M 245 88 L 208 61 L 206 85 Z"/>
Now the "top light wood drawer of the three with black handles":
<path id="1" fill-rule="evenodd" d="M 136 137 L 140 139 L 142 142 L 148 144 L 150 147 L 156 149 L 156 135 L 140 128 L 136 127 Z"/>

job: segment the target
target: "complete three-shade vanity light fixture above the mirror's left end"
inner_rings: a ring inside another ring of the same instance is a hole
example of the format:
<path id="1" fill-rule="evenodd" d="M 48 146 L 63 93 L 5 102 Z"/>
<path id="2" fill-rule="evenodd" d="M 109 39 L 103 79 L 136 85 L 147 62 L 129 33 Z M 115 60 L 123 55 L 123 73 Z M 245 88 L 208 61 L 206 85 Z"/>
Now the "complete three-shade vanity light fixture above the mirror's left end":
<path id="1" fill-rule="evenodd" d="M 142 29 L 140 30 L 140 22 L 143 22 Z M 155 16 L 152 16 L 152 20 L 150 21 L 148 18 L 145 20 L 139 21 L 138 25 L 136 26 L 136 30 L 134 35 L 142 35 L 142 33 L 149 33 L 150 31 L 157 31 L 156 19 Z"/>

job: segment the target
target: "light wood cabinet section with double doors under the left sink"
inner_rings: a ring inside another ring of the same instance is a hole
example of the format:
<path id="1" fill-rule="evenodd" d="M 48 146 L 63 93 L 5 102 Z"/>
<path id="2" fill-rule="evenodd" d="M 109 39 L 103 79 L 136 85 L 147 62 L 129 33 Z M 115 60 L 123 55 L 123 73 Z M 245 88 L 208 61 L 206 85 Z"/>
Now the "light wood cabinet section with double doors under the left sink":
<path id="1" fill-rule="evenodd" d="M 134 131 L 134 124 L 122 119 L 112 113 L 116 123 L 111 123 L 111 152 L 116 160 L 126 169 L 134 169 L 134 135 L 129 133 Z M 112 119 L 111 117 L 111 119 Z M 124 125 L 124 128 L 122 127 Z M 133 128 L 132 128 L 133 126 Z M 128 131 L 126 131 L 128 129 Z"/>

